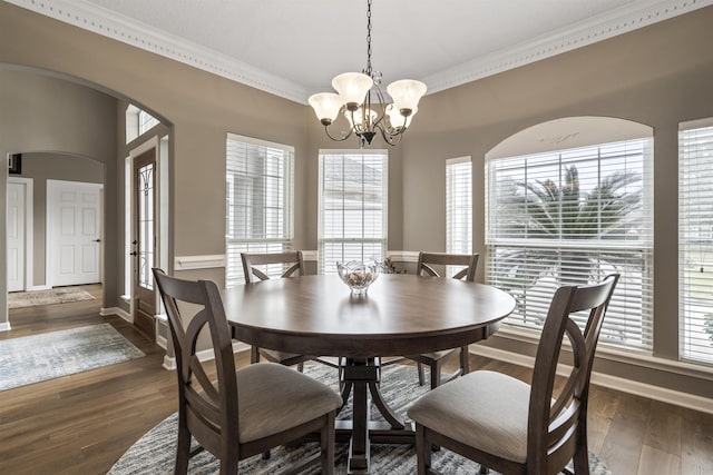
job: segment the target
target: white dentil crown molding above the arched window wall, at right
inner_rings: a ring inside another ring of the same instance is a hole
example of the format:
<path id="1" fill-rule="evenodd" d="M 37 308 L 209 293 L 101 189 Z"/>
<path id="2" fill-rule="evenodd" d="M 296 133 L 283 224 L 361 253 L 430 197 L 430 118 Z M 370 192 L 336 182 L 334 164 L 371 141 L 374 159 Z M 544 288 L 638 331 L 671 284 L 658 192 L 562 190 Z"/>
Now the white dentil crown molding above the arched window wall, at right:
<path id="1" fill-rule="evenodd" d="M 662 0 L 633 4 L 587 21 L 482 56 L 423 78 L 429 93 L 465 85 L 520 66 L 540 61 L 618 34 L 637 30 L 713 4 L 713 0 Z"/>

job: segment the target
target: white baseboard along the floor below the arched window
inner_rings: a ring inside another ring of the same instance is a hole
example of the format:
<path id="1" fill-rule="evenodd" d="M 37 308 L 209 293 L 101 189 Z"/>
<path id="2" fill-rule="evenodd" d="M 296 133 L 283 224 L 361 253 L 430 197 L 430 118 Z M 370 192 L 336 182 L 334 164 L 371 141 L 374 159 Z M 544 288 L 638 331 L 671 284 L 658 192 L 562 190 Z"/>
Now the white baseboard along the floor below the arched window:
<path id="1" fill-rule="evenodd" d="M 471 345 L 469 347 L 469 353 L 529 368 L 535 366 L 535 358 L 531 356 L 491 348 L 484 345 Z M 560 364 L 557 366 L 557 374 L 565 375 L 568 373 L 567 369 L 567 365 Z M 623 393 L 634 394 L 637 396 L 644 395 L 644 397 L 660 400 L 662 403 L 668 403 L 675 406 L 713 414 L 713 399 L 707 397 L 696 396 L 694 394 L 682 393 L 665 387 L 638 383 L 596 372 L 592 373 L 592 383 L 598 386 L 621 390 Z"/>

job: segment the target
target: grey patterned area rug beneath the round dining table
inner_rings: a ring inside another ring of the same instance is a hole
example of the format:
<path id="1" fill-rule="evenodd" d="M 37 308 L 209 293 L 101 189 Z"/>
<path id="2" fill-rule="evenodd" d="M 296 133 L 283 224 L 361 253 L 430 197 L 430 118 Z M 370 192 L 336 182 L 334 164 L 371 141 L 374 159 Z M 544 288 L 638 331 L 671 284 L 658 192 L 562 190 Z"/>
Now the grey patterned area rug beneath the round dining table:
<path id="1" fill-rule="evenodd" d="M 336 389 L 336 370 L 322 365 L 309 365 L 305 373 Z M 381 392 L 399 415 L 406 419 L 406 410 L 420 395 L 428 390 L 427 386 L 418 385 L 418 377 L 413 366 L 393 365 L 382 372 Z M 345 407 L 338 419 L 349 418 L 350 407 Z M 372 406 L 372 417 L 379 418 L 379 410 Z M 380 415 L 379 415 L 380 416 Z M 170 415 L 157 426 L 146 433 L 136 444 L 119 458 L 108 475 L 157 475 L 173 474 L 176 454 L 176 434 L 178 416 Z M 245 474 L 274 474 L 284 469 L 295 461 L 303 459 L 319 452 L 316 443 L 303 444 L 296 447 L 279 447 L 272 451 L 268 461 L 260 455 L 242 461 L 240 472 Z M 346 473 L 348 445 L 336 444 L 335 473 Z M 593 475 L 611 475 L 612 472 L 594 454 L 589 455 Z M 477 474 L 478 464 L 446 449 L 432 455 L 433 468 L 443 474 L 465 475 Z M 207 452 L 202 452 L 191 459 L 188 473 L 192 475 L 213 475 L 219 473 L 219 463 Z M 314 467 L 309 474 L 320 473 Z M 370 473 L 389 475 L 411 475 L 416 473 L 416 448 L 412 445 L 378 444 L 371 447 Z M 490 471 L 491 474 L 497 474 Z"/>

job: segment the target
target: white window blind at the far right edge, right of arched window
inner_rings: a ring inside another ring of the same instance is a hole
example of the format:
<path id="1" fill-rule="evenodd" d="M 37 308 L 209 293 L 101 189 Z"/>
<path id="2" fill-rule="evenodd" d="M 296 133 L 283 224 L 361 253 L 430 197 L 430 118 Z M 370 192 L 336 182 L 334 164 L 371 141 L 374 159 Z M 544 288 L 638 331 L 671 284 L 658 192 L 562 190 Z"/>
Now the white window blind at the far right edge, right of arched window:
<path id="1" fill-rule="evenodd" d="M 683 359 L 713 364 L 713 119 L 681 129 L 678 348 Z"/>

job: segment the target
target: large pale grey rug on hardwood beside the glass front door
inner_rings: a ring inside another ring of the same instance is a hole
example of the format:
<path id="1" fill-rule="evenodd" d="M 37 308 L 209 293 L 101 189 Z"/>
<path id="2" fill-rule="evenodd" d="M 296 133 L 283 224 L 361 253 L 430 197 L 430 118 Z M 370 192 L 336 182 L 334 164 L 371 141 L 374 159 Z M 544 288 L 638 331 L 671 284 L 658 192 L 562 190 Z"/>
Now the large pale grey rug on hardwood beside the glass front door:
<path id="1" fill-rule="evenodd" d="M 0 340 L 0 390 L 146 356 L 109 324 Z"/>

